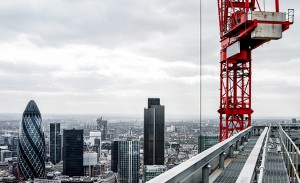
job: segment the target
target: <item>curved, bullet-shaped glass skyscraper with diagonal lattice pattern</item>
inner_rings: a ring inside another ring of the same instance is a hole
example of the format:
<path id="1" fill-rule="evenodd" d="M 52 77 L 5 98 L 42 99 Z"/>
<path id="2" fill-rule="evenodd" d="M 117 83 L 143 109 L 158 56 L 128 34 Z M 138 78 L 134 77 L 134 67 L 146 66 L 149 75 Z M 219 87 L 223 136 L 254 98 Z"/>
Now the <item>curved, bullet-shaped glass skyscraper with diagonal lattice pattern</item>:
<path id="1" fill-rule="evenodd" d="M 30 100 L 23 113 L 18 141 L 19 177 L 25 180 L 45 176 L 45 137 L 41 123 L 39 108 Z"/>

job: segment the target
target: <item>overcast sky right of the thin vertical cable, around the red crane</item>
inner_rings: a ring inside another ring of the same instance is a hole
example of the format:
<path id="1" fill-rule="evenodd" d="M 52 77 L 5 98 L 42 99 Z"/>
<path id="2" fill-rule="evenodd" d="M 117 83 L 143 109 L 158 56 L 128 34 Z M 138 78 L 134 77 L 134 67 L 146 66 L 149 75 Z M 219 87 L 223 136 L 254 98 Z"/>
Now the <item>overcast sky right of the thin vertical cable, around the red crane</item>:
<path id="1" fill-rule="evenodd" d="M 259 0 L 261 8 L 274 11 L 274 0 Z M 216 1 L 202 0 L 204 116 L 218 117 L 219 25 Z M 280 11 L 295 9 L 295 23 L 283 38 L 252 52 L 253 117 L 300 117 L 300 1 L 281 0 Z"/>

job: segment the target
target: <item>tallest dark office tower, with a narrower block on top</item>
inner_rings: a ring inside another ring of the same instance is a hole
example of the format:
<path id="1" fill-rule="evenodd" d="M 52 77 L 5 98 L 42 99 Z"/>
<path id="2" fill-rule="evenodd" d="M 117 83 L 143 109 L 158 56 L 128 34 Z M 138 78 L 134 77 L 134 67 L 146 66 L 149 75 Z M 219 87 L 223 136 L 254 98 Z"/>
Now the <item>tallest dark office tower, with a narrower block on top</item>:
<path id="1" fill-rule="evenodd" d="M 164 165 L 165 106 L 159 98 L 148 99 L 144 109 L 144 165 Z"/>

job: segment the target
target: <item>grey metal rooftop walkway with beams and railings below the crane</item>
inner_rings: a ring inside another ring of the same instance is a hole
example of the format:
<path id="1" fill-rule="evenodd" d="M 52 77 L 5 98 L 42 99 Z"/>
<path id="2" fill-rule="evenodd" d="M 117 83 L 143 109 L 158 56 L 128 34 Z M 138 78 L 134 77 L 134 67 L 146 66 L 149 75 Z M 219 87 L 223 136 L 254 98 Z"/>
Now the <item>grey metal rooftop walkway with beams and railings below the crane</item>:
<path id="1" fill-rule="evenodd" d="M 251 126 L 148 182 L 299 182 L 299 132 L 294 123 Z"/>

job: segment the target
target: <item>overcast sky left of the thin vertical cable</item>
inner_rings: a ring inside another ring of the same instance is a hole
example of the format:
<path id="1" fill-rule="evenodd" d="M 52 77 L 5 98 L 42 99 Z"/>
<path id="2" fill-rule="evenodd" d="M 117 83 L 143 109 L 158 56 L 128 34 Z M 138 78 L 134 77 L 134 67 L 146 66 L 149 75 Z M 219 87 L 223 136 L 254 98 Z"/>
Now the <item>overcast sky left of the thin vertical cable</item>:
<path id="1" fill-rule="evenodd" d="M 213 4 L 212 6 L 215 6 Z M 199 0 L 7 0 L 0 112 L 200 114 Z"/>

